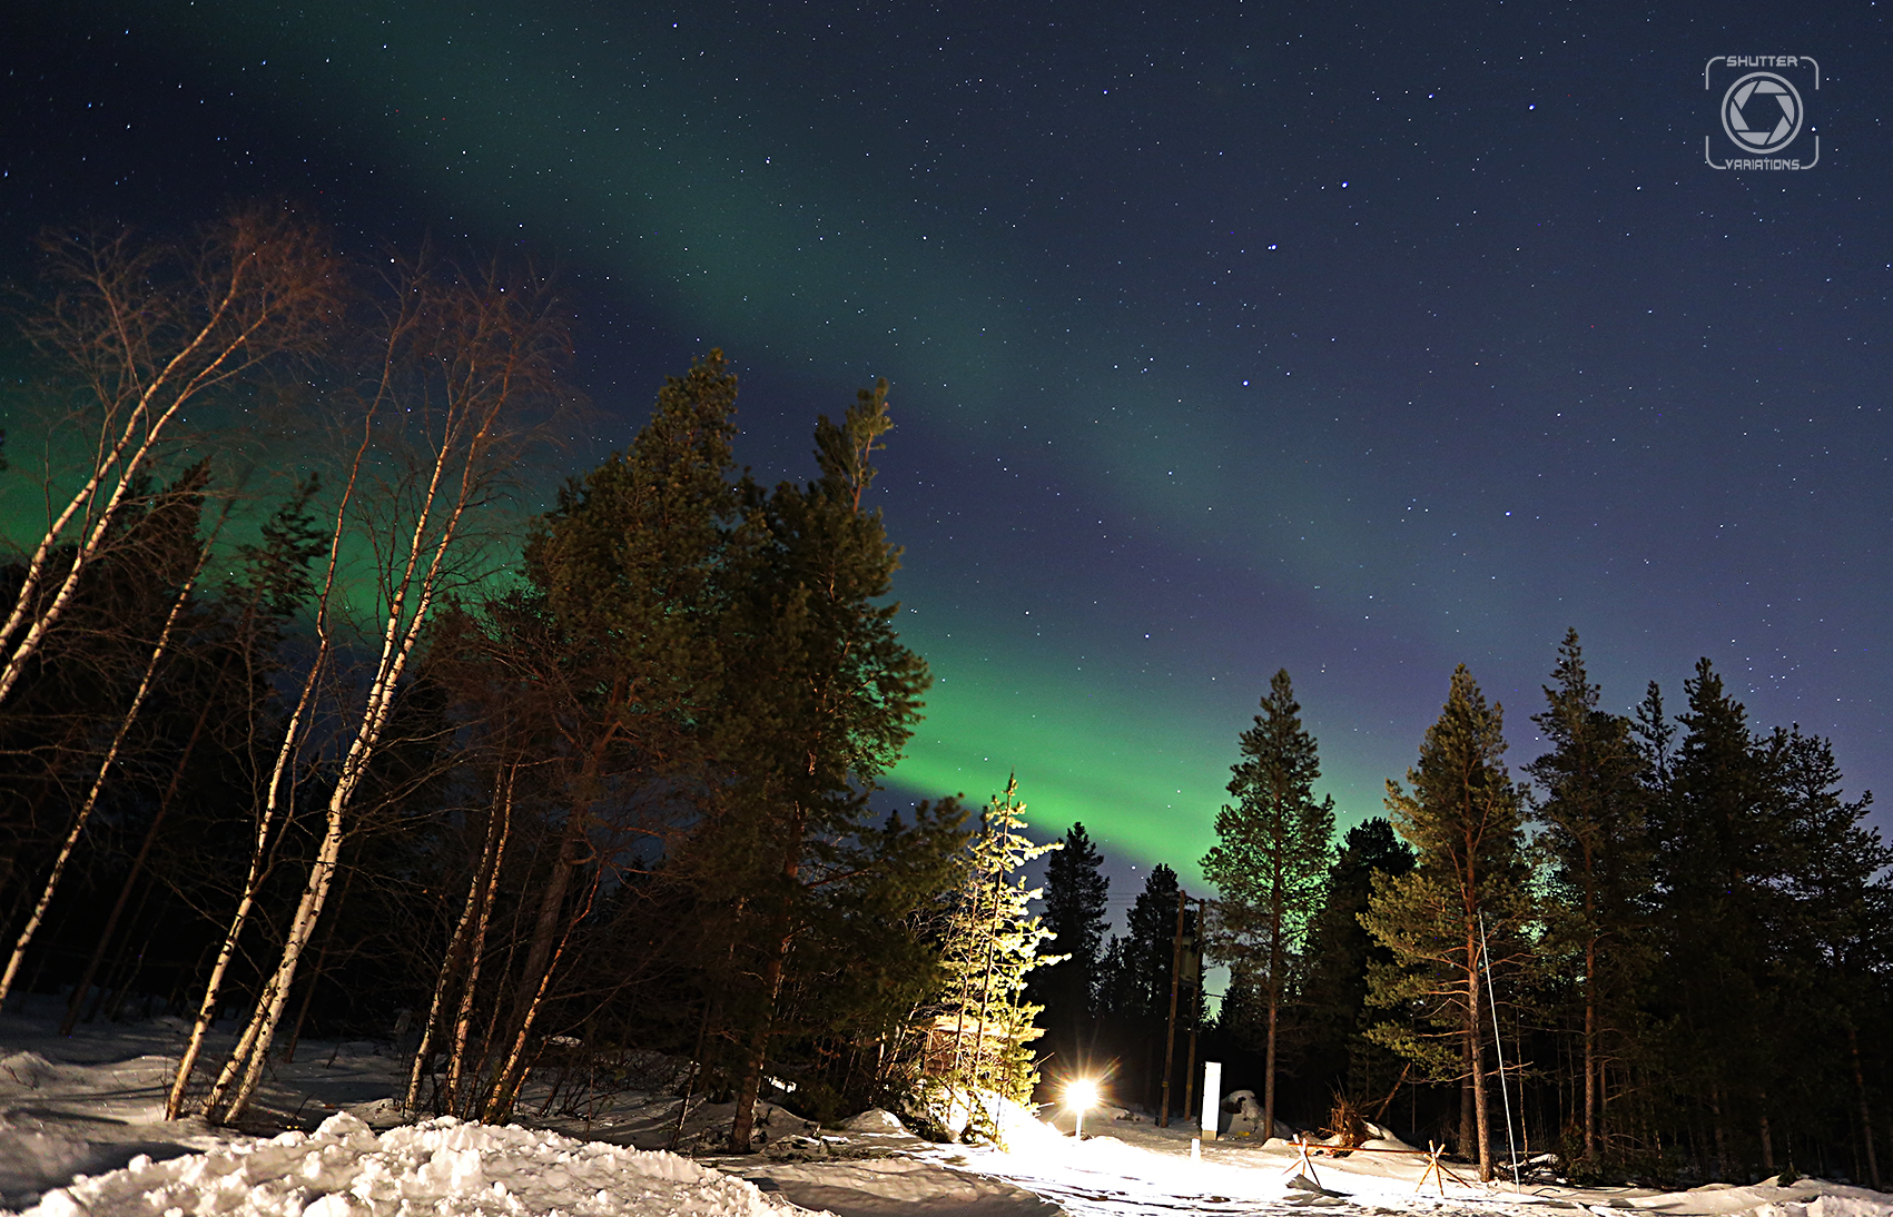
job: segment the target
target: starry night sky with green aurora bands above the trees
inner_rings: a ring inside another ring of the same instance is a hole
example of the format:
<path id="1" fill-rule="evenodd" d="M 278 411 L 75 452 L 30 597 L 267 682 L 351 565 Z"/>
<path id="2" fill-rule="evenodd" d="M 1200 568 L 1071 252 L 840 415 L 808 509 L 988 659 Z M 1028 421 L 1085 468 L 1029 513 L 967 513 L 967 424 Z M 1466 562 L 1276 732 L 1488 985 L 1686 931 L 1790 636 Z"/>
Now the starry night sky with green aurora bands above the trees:
<path id="1" fill-rule="evenodd" d="M 895 785 L 1017 768 L 1191 878 L 1276 668 L 1348 823 L 1458 662 L 1537 755 L 1567 626 L 1611 708 L 1707 655 L 1889 785 L 1889 49 L 1863 2 L 15 0 L 0 273 L 257 195 L 519 246 L 574 303 L 570 471 L 710 346 L 765 481 L 888 377 L 937 678 Z M 1715 55 L 1819 64 L 1817 165 L 1706 163 Z"/>

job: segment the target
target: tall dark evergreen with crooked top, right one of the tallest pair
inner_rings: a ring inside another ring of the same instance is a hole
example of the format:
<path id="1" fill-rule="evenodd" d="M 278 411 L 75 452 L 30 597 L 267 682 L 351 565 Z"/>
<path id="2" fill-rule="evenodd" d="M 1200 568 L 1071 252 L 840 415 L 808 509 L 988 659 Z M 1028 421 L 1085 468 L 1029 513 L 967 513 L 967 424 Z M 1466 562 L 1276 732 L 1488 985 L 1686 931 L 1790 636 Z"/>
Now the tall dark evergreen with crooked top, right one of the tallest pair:
<path id="1" fill-rule="evenodd" d="M 899 604 L 886 596 L 901 551 L 865 502 L 892 426 L 886 380 L 861 390 L 839 424 L 823 414 L 820 477 L 748 494 L 761 538 L 731 570 L 717 748 L 734 780 L 721 795 L 721 848 L 748 859 L 742 899 L 755 908 L 733 977 L 744 992 L 736 1151 L 750 1147 L 789 952 L 814 895 L 846 873 L 842 846 L 859 837 L 867 797 L 899 759 L 931 679 L 893 628 Z"/>

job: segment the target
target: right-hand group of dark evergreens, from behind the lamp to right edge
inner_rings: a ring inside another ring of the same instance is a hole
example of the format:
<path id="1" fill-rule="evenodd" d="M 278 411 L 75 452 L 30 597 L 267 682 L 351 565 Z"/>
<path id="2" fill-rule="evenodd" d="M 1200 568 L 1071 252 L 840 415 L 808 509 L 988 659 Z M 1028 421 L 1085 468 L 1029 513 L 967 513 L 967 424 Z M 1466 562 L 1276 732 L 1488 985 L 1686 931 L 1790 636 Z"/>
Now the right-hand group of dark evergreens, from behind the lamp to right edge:
<path id="1" fill-rule="evenodd" d="M 1893 850 L 1825 738 L 1762 731 L 1709 661 L 1672 715 L 1651 683 L 1601 708 L 1577 634 L 1514 776 L 1499 708 L 1461 668 L 1388 818 L 1335 840 L 1287 674 L 1242 734 L 1202 859 L 1210 963 L 1196 1060 L 1278 1130 L 1439 1141 L 1490 1177 L 1516 1145 L 1588 1179 L 1882 1185 L 1893 1153 Z M 1049 1077 L 1109 1073 L 1157 1111 L 1174 960 L 1183 1115 L 1194 903 L 1155 867 L 1124 935 L 1083 825 L 1054 855 L 1039 977 Z M 1503 1086 L 1499 1064 L 1503 1056 Z M 1507 1115 L 1511 1124 L 1507 1126 Z"/>

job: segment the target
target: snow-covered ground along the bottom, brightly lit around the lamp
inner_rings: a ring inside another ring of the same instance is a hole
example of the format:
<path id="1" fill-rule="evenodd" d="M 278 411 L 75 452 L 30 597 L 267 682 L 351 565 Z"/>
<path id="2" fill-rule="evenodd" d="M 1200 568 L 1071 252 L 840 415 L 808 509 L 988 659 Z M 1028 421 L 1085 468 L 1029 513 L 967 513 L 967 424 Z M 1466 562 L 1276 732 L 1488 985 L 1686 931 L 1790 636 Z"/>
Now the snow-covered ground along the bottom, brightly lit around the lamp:
<path id="1" fill-rule="evenodd" d="M 451 1119 L 399 1124 L 388 1045 L 305 1043 L 261 1090 L 280 1136 L 163 1120 L 184 1028 L 170 1020 L 51 1028 L 32 1005 L 0 1014 L 0 1209 L 34 1217 L 1174 1217 L 1325 1209 L 1335 1217 L 1893 1217 L 1893 1196 L 1821 1181 L 1791 1187 L 1636 1189 L 1422 1185 L 1424 1158 L 1316 1156 L 1223 1139 L 1193 1155 L 1189 1128 L 1087 1122 L 1077 1141 L 1020 1120 L 1007 1149 L 931 1145 L 890 1128 L 818 1130 L 769 1109 L 763 1153 L 663 1153 L 678 1100 L 627 1092 L 591 1119 L 532 1128 Z M 541 1094 L 543 1100 L 543 1094 Z M 727 1126 L 697 1103 L 683 1141 Z M 1066 1117 L 1070 1126 L 1070 1119 Z M 1465 1172 L 1461 1170 L 1461 1177 Z"/>

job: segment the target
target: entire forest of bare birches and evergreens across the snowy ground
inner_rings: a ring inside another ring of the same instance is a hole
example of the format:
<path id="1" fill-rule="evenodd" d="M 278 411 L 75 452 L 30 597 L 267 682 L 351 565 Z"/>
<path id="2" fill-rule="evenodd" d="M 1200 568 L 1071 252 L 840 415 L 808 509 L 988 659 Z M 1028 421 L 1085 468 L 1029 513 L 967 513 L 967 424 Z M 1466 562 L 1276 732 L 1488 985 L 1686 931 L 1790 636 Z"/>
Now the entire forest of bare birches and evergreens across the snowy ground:
<path id="1" fill-rule="evenodd" d="M 871 803 L 929 685 L 871 494 L 884 382 L 765 486 L 710 352 L 530 511 L 585 407 L 530 263 L 345 256 L 278 206 L 42 256 L 0 1001 L 180 1018 L 168 1115 L 267 1124 L 305 1035 L 388 1037 L 413 1113 L 714 1094 L 738 1151 L 761 1098 L 952 1138 L 956 1090 L 1098 1073 L 1181 1113 L 1215 1058 L 1272 1120 L 1488 1175 L 1520 1138 L 1598 1179 L 1878 1187 L 1893 852 L 1827 740 L 1751 727 L 1707 661 L 1681 714 L 1619 715 L 1573 632 L 1520 778 L 1461 668 L 1338 840 L 1283 672 L 1217 844 L 1172 859 L 1213 899 L 1159 865 L 1107 935 L 1094 844 L 1034 833 L 1020 782 Z"/>

